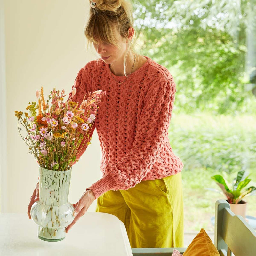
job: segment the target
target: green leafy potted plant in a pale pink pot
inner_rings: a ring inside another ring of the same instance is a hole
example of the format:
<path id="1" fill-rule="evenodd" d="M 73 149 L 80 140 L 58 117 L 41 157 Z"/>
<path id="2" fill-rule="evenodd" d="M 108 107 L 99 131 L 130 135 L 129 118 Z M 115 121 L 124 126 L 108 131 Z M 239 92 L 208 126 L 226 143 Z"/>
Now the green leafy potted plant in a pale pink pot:
<path id="1" fill-rule="evenodd" d="M 251 181 L 251 179 L 248 179 L 249 176 L 250 174 L 247 175 L 245 171 L 239 171 L 236 178 L 233 180 L 232 185 L 229 187 L 221 175 L 217 174 L 211 176 L 211 178 L 215 180 L 224 195 L 227 197 L 226 201 L 230 204 L 231 211 L 236 215 L 241 215 L 244 219 L 246 216 L 245 213 L 247 202 L 242 199 L 246 196 L 253 195 L 256 191 L 254 186 L 245 188 Z M 230 189 L 231 187 L 232 189 Z M 211 188 L 210 190 L 216 191 L 215 189 Z M 219 191 L 217 190 L 217 192 Z"/>

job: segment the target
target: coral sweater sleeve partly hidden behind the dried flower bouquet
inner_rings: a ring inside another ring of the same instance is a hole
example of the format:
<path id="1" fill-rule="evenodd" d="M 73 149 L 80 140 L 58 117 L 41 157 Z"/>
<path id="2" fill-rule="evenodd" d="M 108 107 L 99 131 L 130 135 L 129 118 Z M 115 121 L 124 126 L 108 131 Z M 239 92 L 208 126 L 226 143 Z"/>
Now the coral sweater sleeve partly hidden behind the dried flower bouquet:
<path id="1" fill-rule="evenodd" d="M 85 99 L 86 99 L 88 97 L 88 93 L 89 92 L 92 93 L 91 84 L 92 84 L 92 72 L 90 69 L 90 62 L 89 62 L 83 68 L 81 68 L 77 73 L 75 82 L 71 88 L 72 90 L 76 88 L 76 94 L 73 96 L 73 98 L 71 98 L 72 93 L 70 92 L 68 95 L 67 101 L 79 102 L 78 103 L 78 107 L 79 107 L 84 99 L 84 95 L 87 94 L 85 96 Z M 94 130 L 95 130 L 95 121 L 92 123 L 92 126 L 88 129 L 89 137 L 85 136 L 80 146 L 78 147 L 79 153 L 76 156 L 77 160 L 84 154 L 84 151 L 88 146 L 86 143 L 90 141 L 89 138 L 92 137 Z M 72 165 L 74 165 L 75 163 L 76 161 L 73 162 Z"/>

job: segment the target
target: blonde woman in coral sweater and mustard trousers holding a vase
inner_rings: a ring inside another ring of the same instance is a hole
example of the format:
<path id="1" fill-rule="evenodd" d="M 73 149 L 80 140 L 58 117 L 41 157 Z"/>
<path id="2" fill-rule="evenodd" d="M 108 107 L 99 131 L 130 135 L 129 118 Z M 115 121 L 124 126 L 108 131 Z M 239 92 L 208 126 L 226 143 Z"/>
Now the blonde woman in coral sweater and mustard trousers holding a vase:
<path id="1" fill-rule="evenodd" d="M 117 216 L 132 248 L 183 247 L 183 163 L 168 139 L 176 86 L 164 66 L 135 53 L 134 34 L 130 2 L 90 1 L 85 36 L 101 58 L 80 69 L 72 101 L 106 91 L 90 132 L 97 128 L 103 177 L 74 204 L 66 232 L 97 199 L 96 212 Z"/>

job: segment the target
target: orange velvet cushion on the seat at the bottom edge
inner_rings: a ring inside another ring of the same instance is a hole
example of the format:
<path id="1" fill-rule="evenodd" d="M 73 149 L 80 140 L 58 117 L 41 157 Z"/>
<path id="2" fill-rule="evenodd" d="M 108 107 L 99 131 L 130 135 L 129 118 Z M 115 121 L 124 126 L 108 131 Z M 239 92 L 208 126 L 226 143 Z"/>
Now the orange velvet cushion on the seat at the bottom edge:
<path id="1" fill-rule="evenodd" d="M 183 256 L 220 256 L 220 254 L 204 228 L 201 228 L 200 232 L 188 245 Z"/>

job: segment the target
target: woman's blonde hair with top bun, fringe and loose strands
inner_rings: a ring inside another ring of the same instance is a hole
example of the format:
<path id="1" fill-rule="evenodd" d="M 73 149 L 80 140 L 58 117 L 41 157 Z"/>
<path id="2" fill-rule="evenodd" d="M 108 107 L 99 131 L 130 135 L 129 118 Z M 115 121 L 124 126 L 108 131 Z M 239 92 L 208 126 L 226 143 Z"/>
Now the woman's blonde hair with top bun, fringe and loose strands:
<path id="1" fill-rule="evenodd" d="M 133 7 L 130 0 L 96 0 L 96 8 L 90 7 L 89 20 L 84 27 L 84 35 L 87 38 L 87 51 L 89 46 L 92 47 L 92 42 L 96 44 L 105 42 L 120 49 L 115 36 L 116 30 L 121 37 L 128 38 L 128 29 L 133 27 L 132 12 Z M 128 40 L 128 47 L 124 54 L 125 76 L 127 76 L 126 60 L 128 54 L 130 51 L 136 52 L 136 47 L 140 49 L 138 44 L 136 44 L 136 36 L 137 34 L 134 29 L 134 36 L 132 40 Z M 137 56 L 139 58 L 138 54 Z"/>

